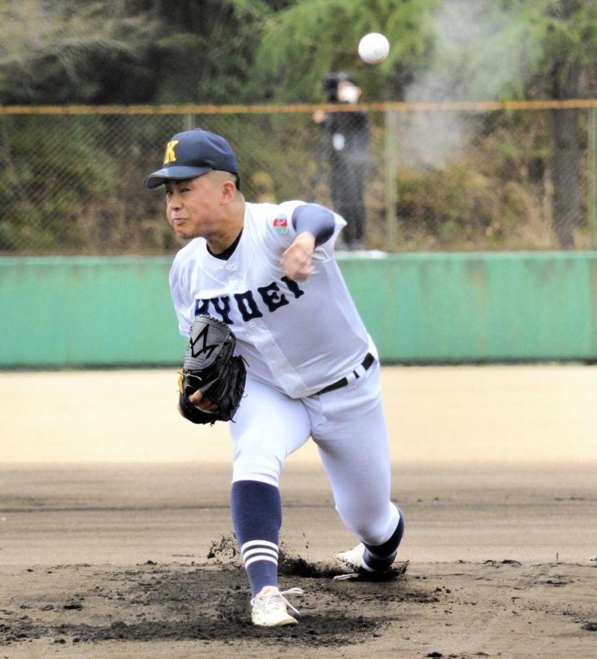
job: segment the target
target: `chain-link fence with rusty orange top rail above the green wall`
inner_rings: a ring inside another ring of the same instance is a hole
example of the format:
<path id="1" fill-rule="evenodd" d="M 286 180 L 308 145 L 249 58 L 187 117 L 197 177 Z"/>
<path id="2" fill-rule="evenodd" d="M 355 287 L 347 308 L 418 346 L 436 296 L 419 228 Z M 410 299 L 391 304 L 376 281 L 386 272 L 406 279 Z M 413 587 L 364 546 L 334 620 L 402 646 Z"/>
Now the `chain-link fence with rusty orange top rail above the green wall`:
<path id="1" fill-rule="evenodd" d="M 0 253 L 180 247 L 165 143 L 197 126 L 235 150 L 248 201 L 303 199 L 386 251 L 595 248 L 597 102 L 0 108 Z"/>

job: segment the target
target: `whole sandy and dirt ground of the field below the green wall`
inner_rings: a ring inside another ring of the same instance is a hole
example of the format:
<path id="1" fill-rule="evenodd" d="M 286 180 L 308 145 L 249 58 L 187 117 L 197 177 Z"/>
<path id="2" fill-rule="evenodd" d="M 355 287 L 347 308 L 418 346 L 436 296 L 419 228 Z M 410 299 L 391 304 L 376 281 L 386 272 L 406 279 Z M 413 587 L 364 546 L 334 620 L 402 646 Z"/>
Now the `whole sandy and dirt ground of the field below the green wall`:
<path id="1" fill-rule="evenodd" d="M 301 624 L 264 630 L 226 428 L 173 413 L 172 371 L 0 373 L 0 659 L 597 657 L 597 368 L 383 378 L 406 573 L 322 577 L 353 539 L 307 445 L 281 484 Z"/>

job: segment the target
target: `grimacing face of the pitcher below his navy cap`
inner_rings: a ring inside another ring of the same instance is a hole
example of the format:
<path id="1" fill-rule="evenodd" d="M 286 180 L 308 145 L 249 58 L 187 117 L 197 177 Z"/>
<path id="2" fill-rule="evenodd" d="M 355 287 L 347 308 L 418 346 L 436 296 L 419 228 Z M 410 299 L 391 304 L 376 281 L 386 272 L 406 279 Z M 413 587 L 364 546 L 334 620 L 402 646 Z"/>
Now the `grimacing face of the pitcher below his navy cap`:
<path id="1" fill-rule="evenodd" d="M 180 238 L 205 238 L 217 230 L 220 191 L 210 174 L 166 181 L 166 215 Z"/>

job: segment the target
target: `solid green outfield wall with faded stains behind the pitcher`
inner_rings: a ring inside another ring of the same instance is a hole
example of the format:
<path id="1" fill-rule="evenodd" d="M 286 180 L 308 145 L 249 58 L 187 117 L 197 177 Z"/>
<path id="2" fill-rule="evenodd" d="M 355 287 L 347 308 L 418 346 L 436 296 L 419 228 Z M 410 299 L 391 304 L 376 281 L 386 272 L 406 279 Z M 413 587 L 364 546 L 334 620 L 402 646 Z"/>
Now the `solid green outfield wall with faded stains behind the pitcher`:
<path id="1" fill-rule="evenodd" d="M 171 261 L 0 259 L 0 367 L 179 365 Z M 597 360 L 597 252 L 338 262 L 384 362 Z"/>

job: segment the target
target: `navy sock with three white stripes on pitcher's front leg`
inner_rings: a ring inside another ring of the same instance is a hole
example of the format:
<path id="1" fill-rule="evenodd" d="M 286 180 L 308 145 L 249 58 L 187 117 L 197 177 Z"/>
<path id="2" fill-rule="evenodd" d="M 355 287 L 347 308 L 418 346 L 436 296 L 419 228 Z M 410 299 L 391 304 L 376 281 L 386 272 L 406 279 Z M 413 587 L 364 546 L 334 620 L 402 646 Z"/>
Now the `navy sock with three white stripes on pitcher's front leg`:
<path id="1" fill-rule="evenodd" d="M 279 489 L 260 481 L 235 481 L 230 508 L 255 597 L 264 586 L 278 585 L 278 537 L 282 524 Z"/>

